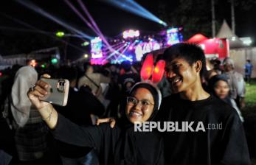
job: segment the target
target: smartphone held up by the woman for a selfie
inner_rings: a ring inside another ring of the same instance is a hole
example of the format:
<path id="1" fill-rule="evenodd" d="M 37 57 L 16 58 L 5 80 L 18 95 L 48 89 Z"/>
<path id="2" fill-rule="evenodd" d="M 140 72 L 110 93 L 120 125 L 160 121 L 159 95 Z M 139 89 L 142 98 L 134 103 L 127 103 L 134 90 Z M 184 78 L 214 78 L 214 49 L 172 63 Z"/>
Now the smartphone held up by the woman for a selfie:
<path id="1" fill-rule="evenodd" d="M 48 94 L 44 97 L 39 98 L 44 102 L 51 104 L 66 106 L 69 96 L 69 80 L 66 79 L 50 79 L 41 78 L 44 82 L 49 84 L 47 88 Z"/>

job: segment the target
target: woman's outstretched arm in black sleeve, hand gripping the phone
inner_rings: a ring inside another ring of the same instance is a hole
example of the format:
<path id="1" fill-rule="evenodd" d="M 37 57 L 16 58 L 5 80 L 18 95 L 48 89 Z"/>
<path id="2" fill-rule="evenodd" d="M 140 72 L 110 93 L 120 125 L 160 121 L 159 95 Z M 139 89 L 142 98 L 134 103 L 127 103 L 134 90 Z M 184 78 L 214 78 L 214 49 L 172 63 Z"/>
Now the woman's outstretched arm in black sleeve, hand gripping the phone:
<path id="1" fill-rule="evenodd" d="M 60 141 L 83 147 L 97 147 L 100 149 L 100 141 L 103 131 L 100 127 L 80 127 L 59 115 L 52 104 L 43 102 L 41 97 L 46 96 L 49 84 L 42 80 L 35 83 L 35 88 L 30 88 L 27 96 L 38 109 L 42 118 L 52 129 L 52 134 Z"/>

